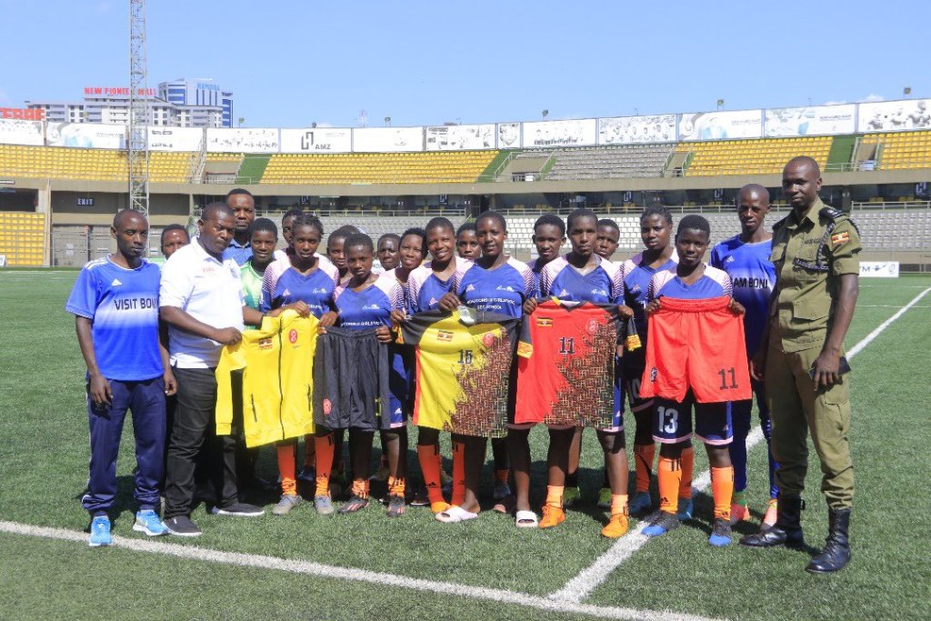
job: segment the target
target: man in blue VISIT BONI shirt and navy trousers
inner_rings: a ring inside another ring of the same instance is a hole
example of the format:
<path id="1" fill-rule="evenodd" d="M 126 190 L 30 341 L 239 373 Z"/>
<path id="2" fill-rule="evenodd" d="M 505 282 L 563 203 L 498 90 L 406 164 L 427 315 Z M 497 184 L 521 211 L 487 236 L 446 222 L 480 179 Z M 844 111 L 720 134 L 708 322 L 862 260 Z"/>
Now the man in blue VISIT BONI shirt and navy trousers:
<path id="1" fill-rule="evenodd" d="M 139 211 L 116 214 L 110 233 L 116 252 L 89 262 L 65 309 L 74 315 L 77 342 L 88 366 L 90 473 L 82 499 L 90 513 L 91 547 L 109 546 L 109 511 L 116 497 L 116 456 L 126 412 L 136 437 L 139 511 L 134 531 L 168 533 L 159 519 L 165 453 L 165 396 L 176 390 L 168 353 L 158 342 L 155 263 L 142 258 L 149 223 Z"/>

